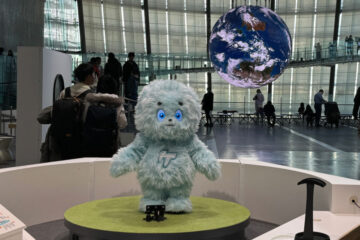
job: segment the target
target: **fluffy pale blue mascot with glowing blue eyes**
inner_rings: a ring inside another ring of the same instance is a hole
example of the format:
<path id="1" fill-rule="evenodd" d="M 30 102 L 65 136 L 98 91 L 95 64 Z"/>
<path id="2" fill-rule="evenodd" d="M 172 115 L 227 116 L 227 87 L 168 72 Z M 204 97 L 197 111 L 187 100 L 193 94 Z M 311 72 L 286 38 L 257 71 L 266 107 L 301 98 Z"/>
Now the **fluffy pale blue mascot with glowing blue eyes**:
<path id="1" fill-rule="evenodd" d="M 191 212 L 189 200 L 196 171 L 220 176 L 220 164 L 197 135 L 201 110 L 195 92 L 175 80 L 156 80 L 144 87 L 135 108 L 139 133 L 114 156 L 113 177 L 137 171 L 146 205 L 165 204 L 167 212 Z"/>

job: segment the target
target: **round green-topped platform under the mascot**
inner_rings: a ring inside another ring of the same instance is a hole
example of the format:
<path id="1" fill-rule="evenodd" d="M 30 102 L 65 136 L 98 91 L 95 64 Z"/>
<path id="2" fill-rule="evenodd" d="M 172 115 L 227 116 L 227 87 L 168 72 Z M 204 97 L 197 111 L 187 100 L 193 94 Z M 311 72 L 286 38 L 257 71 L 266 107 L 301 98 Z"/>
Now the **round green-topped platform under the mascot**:
<path id="1" fill-rule="evenodd" d="M 146 222 L 140 196 L 96 200 L 69 208 L 65 226 L 81 239 L 243 239 L 250 211 L 233 202 L 190 197 L 192 213 L 165 213 L 162 222 Z"/>

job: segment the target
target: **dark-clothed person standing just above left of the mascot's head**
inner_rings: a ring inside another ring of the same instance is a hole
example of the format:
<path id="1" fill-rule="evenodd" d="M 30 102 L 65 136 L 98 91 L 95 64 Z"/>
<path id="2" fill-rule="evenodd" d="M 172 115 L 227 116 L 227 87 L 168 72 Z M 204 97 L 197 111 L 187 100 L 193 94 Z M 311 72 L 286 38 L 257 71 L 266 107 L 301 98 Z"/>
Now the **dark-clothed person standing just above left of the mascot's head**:
<path id="1" fill-rule="evenodd" d="M 138 85 L 140 84 L 140 71 L 134 58 L 135 53 L 129 52 L 128 60 L 124 64 L 123 82 L 125 85 L 125 97 L 136 101 L 138 97 Z"/>

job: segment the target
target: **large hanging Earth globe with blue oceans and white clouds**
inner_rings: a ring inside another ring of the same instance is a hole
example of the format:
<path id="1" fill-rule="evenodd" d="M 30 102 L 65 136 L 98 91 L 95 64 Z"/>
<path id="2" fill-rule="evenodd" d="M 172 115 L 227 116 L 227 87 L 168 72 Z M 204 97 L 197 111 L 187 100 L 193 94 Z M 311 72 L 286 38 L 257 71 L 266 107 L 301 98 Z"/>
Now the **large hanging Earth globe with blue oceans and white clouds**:
<path id="1" fill-rule="evenodd" d="M 240 6 L 215 23 L 209 51 L 224 80 L 238 87 L 258 88 L 277 79 L 289 64 L 291 36 L 272 10 Z"/>

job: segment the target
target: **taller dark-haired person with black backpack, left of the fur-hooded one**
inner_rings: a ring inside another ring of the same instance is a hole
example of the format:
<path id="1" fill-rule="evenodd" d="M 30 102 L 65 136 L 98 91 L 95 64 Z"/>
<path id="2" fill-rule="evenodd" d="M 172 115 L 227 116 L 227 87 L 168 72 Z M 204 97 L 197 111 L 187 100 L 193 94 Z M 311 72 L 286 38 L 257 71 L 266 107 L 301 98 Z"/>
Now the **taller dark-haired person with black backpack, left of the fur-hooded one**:
<path id="1" fill-rule="evenodd" d="M 74 70 L 78 82 L 65 88 L 52 106 L 51 137 L 60 152 L 60 160 L 82 157 L 83 100 L 96 81 L 94 67 L 82 63 Z"/>

